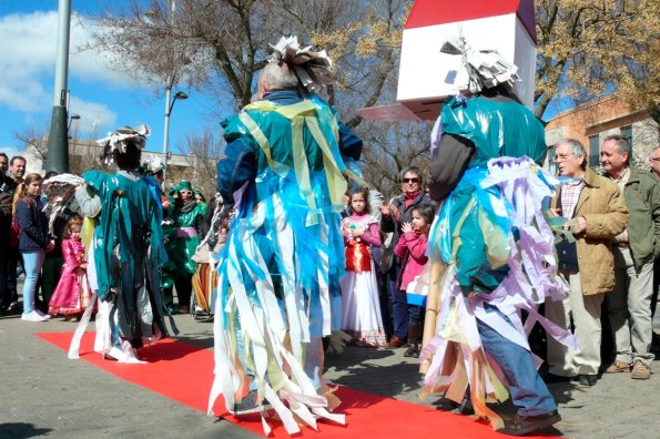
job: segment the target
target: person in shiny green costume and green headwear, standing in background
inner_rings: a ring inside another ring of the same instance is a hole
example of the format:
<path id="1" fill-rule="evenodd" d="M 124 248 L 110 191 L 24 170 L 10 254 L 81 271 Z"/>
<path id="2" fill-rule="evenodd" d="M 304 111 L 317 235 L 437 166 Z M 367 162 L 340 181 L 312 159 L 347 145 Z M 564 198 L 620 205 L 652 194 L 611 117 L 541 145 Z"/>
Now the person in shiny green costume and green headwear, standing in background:
<path id="1" fill-rule="evenodd" d="M 175 229 L 174 236 L 171 237 L 173 246 L 170 249 L 170 258 L 172 266 L 175 267 L 172 277 L 179 297 L 176 310 L 187 314 L 193 288 L 192 279 L 196 268 L 192 257 L 200 245 L 199 229 L 206 214 L 206 205 L 197 203 L 189 181 L 182 180 L 176 190 L 179 196 L 174 212 L 171 214 Z"/>

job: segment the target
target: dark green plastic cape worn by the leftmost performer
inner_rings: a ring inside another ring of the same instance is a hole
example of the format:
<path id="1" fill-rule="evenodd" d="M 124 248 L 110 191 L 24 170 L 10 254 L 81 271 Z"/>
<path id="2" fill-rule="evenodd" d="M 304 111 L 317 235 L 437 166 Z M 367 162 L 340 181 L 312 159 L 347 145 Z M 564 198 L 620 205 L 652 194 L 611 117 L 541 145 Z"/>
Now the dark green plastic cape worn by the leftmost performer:
<path id="1" fill-rule="evenodd" d="M 138 348 L 143 338 L 166 335 L 160 292 L 160 265 L 166 255 L 158 205 L 141 178 L 98 171 L 83 177 L 102 205 L 92 244 L 98 296 L 116 306 L 113 339 Z"/>

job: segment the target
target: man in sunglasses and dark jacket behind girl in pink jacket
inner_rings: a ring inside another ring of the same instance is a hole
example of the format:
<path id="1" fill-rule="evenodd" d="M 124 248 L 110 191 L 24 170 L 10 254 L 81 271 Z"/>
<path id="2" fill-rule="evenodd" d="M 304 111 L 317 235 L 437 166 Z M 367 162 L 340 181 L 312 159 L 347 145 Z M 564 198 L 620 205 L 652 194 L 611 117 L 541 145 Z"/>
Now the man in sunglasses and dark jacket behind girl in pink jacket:
<path id="1" fill-rule="evenodd" d="M 422 190 L 422 172 L 417 166 L 405 167 L 400 173 L 398 181 L 402 185 L 403 194 L 393 198 L 389 204 L 380 206 L 380 231 L 383 233 L 393 233 L 393 247 L 398 242 L 402 233 L 402 225 L 413 221 L 413 211 L 426 203 L 433 203 L 430 197 Z M 388 349 L 395 349 L 406 344 L 409 336 L 409 330 L 414 331 L 416 336 L 420 333 L 420 328 L 412 328 L 408 326 L 408 300 L 405 292 L 400 292 L 396 282 L 400 270 L 400 259 L 393 256 L 393 264 L 387 272 L 387 284 L 389 286 L 389 296 L 392 298 L 392 312 L 394 317 L 394 328 L 392 338 L 387 343 Z M 386 313 L 384 313 L 386 314 Z M 386 325 L 388 326 L 388 325 Z M 389 334 L 388 334 L 389 336 Z"/>

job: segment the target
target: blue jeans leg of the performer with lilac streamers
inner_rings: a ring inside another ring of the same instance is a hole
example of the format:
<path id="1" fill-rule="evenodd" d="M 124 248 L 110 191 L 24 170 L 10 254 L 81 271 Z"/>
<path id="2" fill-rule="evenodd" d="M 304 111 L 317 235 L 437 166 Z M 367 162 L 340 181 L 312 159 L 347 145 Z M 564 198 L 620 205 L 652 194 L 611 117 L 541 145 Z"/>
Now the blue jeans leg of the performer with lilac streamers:
<path id="1" fill-rule="evenodd" d="M 497 313 L 509 324 L 507 316 L 494 306 L 485 305 L 486 312 Z M 477 319 L 477 328 L 486 350 L 499 365 L 509 381 L 511 400 L 518 415 L 537 416 L 557 410 L 555 398 L 538 375 L 531 353 Z"/>

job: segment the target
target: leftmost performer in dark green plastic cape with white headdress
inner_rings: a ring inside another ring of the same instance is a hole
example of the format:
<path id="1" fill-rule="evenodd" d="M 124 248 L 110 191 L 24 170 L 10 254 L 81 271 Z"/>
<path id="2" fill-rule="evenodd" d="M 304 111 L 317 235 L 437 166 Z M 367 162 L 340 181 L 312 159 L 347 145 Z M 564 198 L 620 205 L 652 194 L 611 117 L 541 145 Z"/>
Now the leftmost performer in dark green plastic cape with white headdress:
<path id="1" fill-rule="evenodd" d="M 140 171 L 148 135 L 145 125 L 124 126 L 98 141 L 103 160 L 119 171 L 89 171 L 83 174 L 85 185 L 75 191 L 80 210 L 95 218 L 88 267 L 90 286 L 99 298 L 94 350 L 122 363 L 140 363 L 135 349 L 167 335 L 160 289 L 164 257 L 160 194 L 152 194 L 153 185 Z M 69 358 L 78 358 L 91 308 L 75 331 Z"/>

